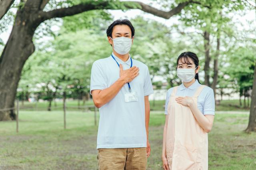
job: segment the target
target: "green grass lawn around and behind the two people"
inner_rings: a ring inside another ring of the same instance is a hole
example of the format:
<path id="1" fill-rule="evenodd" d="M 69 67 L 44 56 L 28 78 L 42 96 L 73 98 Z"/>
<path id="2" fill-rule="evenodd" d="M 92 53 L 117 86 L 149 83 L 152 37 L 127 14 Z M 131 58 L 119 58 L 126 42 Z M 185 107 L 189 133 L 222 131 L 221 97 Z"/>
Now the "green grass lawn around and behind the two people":
<path id="1" fill-rule="evenodd" d="M 256 133 L 246 134 L 248 114 L 217 113 L 209 137 L 209 170 L 254 170 Z M 150 115 L 148 170 L 161 170 L 164 115 Z M 20 111 L 16 123 L 0 122 L 0 170 L 96 170 L 97 126 L 93 112 Z"/>

